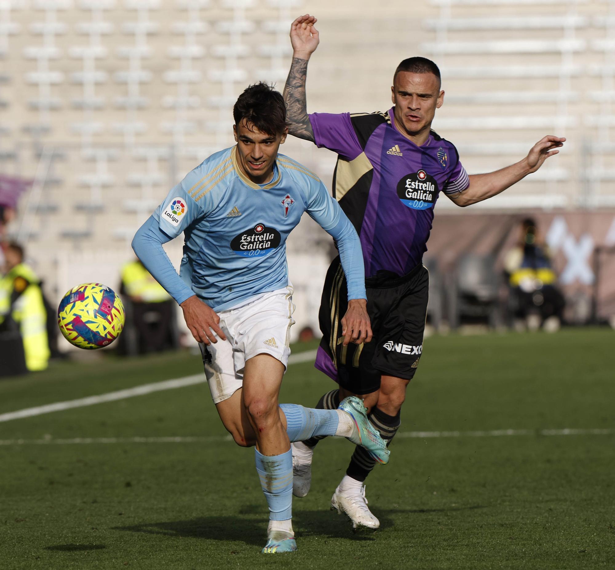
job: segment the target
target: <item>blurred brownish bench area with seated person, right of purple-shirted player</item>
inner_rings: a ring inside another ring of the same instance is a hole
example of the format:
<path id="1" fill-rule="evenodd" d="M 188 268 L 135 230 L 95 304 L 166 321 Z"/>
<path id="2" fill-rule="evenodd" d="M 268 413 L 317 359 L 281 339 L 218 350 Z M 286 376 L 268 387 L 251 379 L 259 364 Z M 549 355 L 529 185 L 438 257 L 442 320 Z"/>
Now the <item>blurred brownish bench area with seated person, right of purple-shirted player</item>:
<path id="1" fill-rule="evenodd" d="M 435 217 L 424 265 L 435 330 L 615 325 L 615 212 Z"/>

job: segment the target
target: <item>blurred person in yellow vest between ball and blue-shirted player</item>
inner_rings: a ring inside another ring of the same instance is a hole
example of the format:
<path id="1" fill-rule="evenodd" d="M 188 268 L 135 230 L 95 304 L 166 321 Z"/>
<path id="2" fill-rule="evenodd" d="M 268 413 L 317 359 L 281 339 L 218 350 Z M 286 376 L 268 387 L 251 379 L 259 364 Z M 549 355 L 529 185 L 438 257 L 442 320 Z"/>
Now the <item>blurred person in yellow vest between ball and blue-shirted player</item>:
<path id="1" fill-rule="evenodd" d="M 120 337 L 122 352 L 145 354 L 178 348 L 173 300 L 140 260 L 122 267 L 120 294 L 127 316 Z"/>

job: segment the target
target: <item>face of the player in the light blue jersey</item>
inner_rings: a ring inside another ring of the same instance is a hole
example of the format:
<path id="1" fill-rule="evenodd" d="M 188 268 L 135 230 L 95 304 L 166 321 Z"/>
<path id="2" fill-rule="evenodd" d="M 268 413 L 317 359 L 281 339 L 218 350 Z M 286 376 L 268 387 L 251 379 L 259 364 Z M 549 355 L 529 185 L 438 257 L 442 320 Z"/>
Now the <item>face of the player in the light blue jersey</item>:
<path id="1" fill-rule="evenodd" d="M 286 140 L 287 132 L 269 135 L 243 119 L 239 125 L 233 125 L 239 166 L 252 182 L 264 184 L 272 179 L 277 151 Z"/>

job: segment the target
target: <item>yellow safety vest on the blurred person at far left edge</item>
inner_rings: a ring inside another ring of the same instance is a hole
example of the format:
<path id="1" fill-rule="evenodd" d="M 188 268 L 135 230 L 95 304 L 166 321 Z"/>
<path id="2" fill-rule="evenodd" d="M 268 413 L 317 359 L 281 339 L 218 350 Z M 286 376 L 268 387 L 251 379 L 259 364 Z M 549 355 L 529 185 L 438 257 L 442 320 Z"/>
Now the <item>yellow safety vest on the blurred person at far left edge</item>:
<path id="1" fill-rule="evenodd" d="M 19 293 L 13 303 L 10 299 Z M 39 280 L 30 267 L 16 265 L 0 279 L 0 324 L 7 316 L 18 324 L 28 370 L 45 370 L 49 361 L 47 311 L 42 300 Z"/>

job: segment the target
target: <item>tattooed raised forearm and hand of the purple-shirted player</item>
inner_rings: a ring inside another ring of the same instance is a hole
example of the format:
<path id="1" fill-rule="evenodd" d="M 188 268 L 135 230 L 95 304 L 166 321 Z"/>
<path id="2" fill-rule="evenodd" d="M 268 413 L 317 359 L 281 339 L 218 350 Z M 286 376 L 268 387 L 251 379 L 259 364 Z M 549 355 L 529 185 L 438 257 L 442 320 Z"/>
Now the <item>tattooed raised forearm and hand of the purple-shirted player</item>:
<path id="1" fill-rule="evenodd" d="M 314 132 L 309 122 L 306 103 L 306 76 L 308 60 L 318 46 L 316 18 L 309 14 L 300 16 L 290 26 L 290 42 L 293 45 L 293 62 L 284 86 L 284 103 L 288 132 L 301 139 L 314 142 Z"/>

